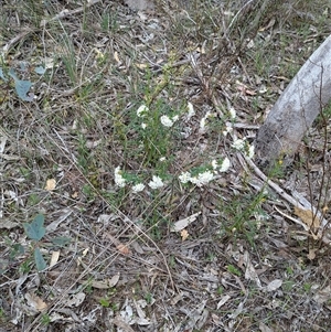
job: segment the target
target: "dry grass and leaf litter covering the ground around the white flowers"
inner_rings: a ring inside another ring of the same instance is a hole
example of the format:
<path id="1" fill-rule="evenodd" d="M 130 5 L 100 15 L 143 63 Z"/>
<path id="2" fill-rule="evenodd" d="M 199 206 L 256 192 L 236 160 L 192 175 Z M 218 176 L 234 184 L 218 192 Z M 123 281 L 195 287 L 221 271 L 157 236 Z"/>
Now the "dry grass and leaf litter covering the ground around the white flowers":
<path id="1" fill-rule="evenodd" d="M 284 216 L 292 207 L 232 144 L 252 143 L 329 33 L 330 6 L 234 2 L 156 1 L 136 12 L 118 1 L 4 1 L 0 66 L 31 81 L 34 94 L 24 101 L 0 79 L 4 331 L 329 331 L 329 248 Z M 167 128 L 162 115 L 179 120 Z M 323 124 L 307 138 L 314 152 L 273 175 L 320 207 L 330 193 L 316 148 L 328 139 Z M 207 185 L 179 181 L 224 158 L 229 170 Z M 311 164 L 318 171 L 308 181 Z M 125 188 L 115 183 L 117 167 Z M 161 189 L 150 188 L 152 175 Z M 140 182 L 145 190 L 134 193 Z M 40 242 L 23 228 L 38 214 L 46 226 Z M 71 243 L 54 245 L 60 236 Z"/>

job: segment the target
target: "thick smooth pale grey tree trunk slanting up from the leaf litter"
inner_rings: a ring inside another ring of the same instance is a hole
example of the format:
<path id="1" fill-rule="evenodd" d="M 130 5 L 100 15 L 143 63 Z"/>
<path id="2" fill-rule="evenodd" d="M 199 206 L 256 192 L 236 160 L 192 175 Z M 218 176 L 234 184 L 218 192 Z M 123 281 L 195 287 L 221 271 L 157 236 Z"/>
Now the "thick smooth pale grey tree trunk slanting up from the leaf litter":
<path id="1" fill-rule="evenodd" d="M 257 164 L 268 168 L 279 158 L 293 156 L 330 99 L 331 35 L 300 68 L 259 128 L 255 140 Z"/>

